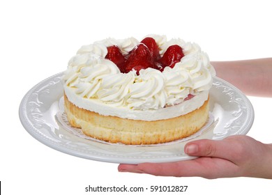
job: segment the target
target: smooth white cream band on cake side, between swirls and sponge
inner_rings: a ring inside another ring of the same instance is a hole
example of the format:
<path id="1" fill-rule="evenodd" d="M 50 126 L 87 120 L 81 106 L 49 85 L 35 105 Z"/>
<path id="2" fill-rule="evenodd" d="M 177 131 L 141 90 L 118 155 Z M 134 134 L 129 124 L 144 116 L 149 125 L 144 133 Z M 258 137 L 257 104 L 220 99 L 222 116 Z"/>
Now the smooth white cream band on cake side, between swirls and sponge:
<path id="1" fill-rule="evenodd" d="M 174 106 L 165 107 L 162 109 L 137 110 L 130 109 L 128 107 L 116 107 L 113 104 L 105 104 L 98 99 L 93 99 L 90 101 L 86 98 L 81 98 L 80 96 L 75 95 L 74 90 L 75 89 L 73 88 L 68 88 L 65 86 L 65 93 L 68 100 L 81 109 L 94 111 L 103 116 L 117 116 L 120 118 L 146 121 L 163 120 L 188 114 L 190 111 L 201 107 L 209 97 L 209 93 L 207 91 L 203 91 L 194 98 Z"/>

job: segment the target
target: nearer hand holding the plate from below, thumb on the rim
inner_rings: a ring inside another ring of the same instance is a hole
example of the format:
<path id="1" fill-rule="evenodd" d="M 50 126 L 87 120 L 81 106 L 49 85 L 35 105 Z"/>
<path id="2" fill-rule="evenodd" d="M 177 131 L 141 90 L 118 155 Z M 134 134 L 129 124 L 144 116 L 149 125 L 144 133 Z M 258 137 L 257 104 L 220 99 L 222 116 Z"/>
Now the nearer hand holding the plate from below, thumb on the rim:
<path id="1" fill-rule="evenodd" d="M 120 164 L 118 170 L 154 176 L 272 179 L 272 145 L 245 135 L 234 135 L 221 141 L 191 141 L 186 144 L 184 151 L 199 158 L 158 164 Z"/>

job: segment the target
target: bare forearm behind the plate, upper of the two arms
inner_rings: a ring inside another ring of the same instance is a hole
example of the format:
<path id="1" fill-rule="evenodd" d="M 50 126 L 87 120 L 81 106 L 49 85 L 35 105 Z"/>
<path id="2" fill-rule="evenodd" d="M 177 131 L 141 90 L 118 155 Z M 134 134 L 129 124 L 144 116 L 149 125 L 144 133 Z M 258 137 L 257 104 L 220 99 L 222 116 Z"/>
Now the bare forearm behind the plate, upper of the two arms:
<path id="1" fill-rule="evenodd" d="M 213 61 L 216 75 L 247 95 L 272 97 L 272 58 Z"/>

